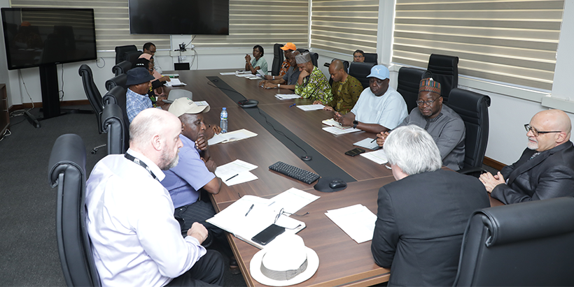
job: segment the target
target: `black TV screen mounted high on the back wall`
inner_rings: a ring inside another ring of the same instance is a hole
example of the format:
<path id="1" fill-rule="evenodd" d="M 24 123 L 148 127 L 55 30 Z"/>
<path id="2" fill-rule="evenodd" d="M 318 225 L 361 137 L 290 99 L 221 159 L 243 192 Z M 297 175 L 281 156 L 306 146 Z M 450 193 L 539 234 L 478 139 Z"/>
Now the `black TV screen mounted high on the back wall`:
<path id="1" fill-rule="evenodd" d="M 129 0 L 130 33 L 229 35 L 229 0 Z"/>

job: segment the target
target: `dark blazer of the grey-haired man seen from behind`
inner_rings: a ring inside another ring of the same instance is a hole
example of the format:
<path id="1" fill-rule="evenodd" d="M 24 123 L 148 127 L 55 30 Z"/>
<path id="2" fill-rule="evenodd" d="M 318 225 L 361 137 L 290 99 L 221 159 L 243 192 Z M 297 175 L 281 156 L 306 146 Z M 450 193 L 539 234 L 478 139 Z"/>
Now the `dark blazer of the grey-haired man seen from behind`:
<path id="1" fill-rule="evenodd" d="M 378 205 L 371 251 L 388 286 L 452 286 L 466 223 L 490 201 L 477 178 L 437 170 L 386 184 Z"/>

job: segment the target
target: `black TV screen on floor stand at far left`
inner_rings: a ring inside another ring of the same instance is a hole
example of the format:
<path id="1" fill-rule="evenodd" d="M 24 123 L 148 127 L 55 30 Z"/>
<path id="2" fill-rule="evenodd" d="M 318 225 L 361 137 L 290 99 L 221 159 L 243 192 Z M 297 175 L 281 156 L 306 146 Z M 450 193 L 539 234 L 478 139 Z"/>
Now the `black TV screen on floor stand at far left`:
<path id="1" fill-rule="evenodd" d="M 1 10 L 9 70 L 97 59 L 94 9 Z"/>

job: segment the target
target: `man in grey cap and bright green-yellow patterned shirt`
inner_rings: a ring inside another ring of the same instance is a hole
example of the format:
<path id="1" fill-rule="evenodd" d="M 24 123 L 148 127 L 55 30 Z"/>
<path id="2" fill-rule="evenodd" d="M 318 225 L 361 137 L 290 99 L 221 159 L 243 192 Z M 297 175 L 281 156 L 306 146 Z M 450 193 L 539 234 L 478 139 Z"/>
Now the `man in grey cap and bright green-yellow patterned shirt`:
<path id="1" fill-rule="evenodd" d="M 311 54 L 303 52 L 295 56 L 297 68 L 299 68 L 299 78 L 295 84 L 295 94 L 302 98 L 309 98 L 314 103 L 326 105 L 332 101 L 331 87 L 329 80 L 325 78 L 323 72 L 313 65 Z"/>

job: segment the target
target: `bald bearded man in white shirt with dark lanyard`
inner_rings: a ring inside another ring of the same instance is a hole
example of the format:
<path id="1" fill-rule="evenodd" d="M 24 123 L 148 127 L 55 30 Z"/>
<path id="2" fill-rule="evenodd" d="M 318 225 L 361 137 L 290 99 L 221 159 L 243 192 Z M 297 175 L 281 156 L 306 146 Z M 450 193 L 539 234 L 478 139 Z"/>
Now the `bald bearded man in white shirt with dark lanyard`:
<path id="1" fill-rule="evenodd" d="M 102 286 L 221 285 L 223 258 L 195 223 L 181 237 L 174 204 L 160 184 L 177 164 L 181 122 L 159 109 L 130 125 L 130 149 L 99 161 L 86 183 L 87 233 Z"/>

